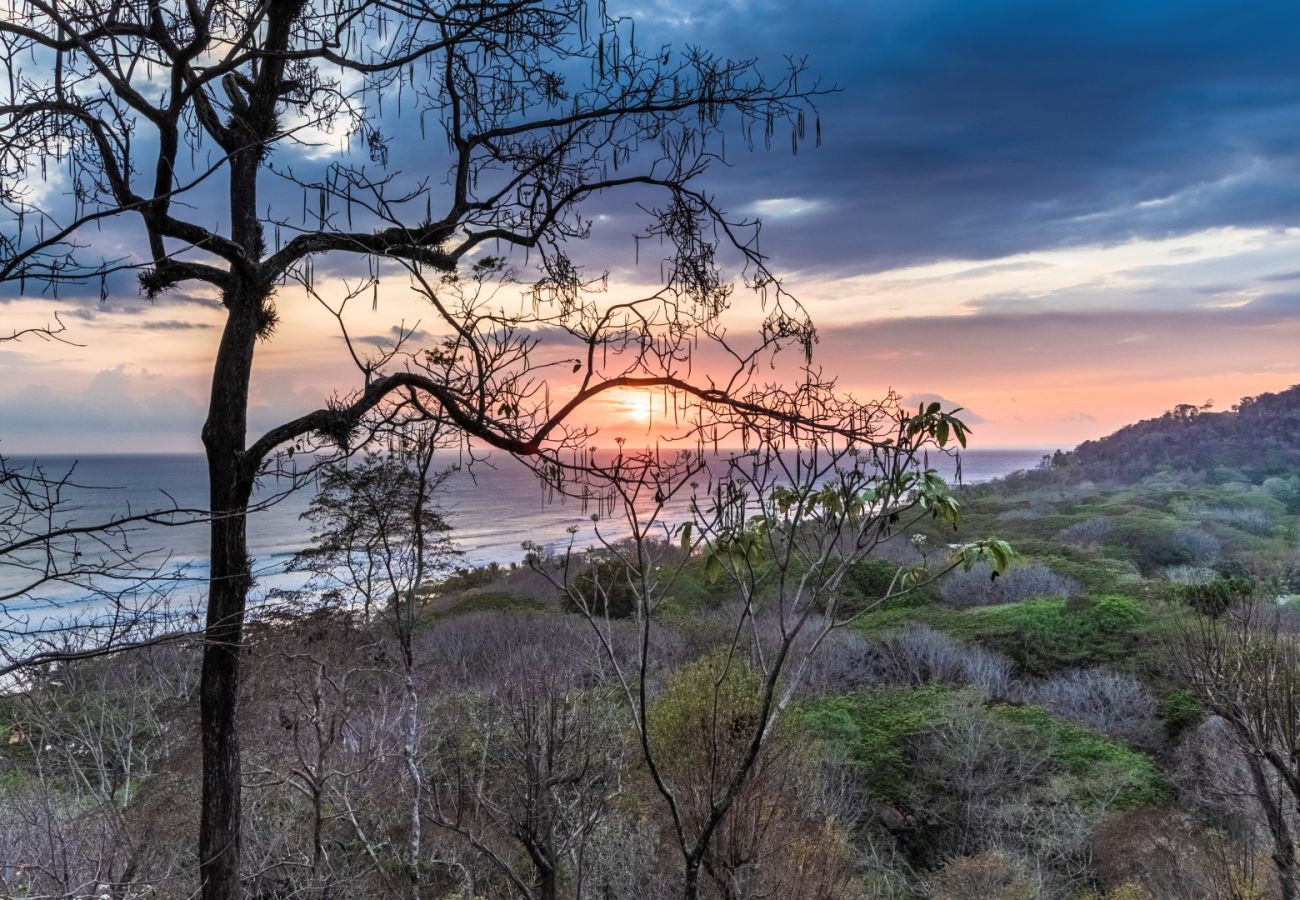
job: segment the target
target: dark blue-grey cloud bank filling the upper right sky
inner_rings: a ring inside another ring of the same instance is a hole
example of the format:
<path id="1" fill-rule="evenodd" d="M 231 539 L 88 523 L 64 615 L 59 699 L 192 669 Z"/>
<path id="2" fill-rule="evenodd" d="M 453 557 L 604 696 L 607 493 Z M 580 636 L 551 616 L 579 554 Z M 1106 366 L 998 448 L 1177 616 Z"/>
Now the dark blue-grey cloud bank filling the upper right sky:
<path id="1" fill-rule="evenodd" d="M 646 16 L 671 34 L 689 8 Z M 807 53 L 842 88 L 822 103 L 822 150 L 758 153 L 723 177 L 733 208 L 822 202 L 768 224 L 783 265 L 874 271 L 1300 218 L 1300 5 L 766 0 L 745 13 L 718 4 L 686 27 L 768 61 Z"/>

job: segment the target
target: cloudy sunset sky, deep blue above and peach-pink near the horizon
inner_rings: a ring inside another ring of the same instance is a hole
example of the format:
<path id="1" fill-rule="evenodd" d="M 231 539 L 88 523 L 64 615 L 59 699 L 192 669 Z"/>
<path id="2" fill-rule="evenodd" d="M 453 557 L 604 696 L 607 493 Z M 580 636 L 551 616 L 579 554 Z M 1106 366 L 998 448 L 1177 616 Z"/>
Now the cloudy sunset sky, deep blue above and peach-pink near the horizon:
<path id="1" fill-rule="evenodd" d="M 763 250 L 846 390 L 959 404 L 976 447 L 1067 447 L 1175 403 L 1300 382 L 1300 5 L 641 0 L 634 13 L 640 40 L 774 68 L 806 56 L 838 88 L 819 100 L 820 148 L 736 153 L 707 187 L 763 218 Z M 398 147 L 393 166 L 419 159 Z M 634 228 L 618 211 L 597 222 L 615 281 L 646 274 Z M 255 428 L 355 381 L 318 308 L 282 297 L 280 310 Z M 218 308 L 150 304 L 129 284 L 101 302 L 96 286 L 8 298 L 0 330 L 56 311 L 83 346 L 0 346 L 0 449 L 199 449 Z M 354 329 L 419 317 L 385 297 Z M 615 398 L 593 416 L 634 430 L 640 408 Z"/>

